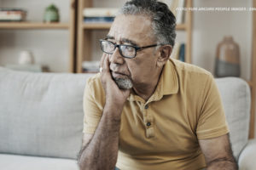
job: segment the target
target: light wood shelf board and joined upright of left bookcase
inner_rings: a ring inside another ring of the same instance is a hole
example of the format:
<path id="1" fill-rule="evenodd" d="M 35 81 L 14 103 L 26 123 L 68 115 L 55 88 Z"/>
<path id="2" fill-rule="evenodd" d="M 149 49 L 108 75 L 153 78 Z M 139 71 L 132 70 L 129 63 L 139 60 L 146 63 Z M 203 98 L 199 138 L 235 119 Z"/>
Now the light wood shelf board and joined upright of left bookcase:
<path id="1" fill-rule="evenodd" d="M 69 31 L 69 72 L 75 68 L 75 10 L 76 0 L 69 0 L 69 22 L 68 23 L 44 23 L 44 22 L 0 22 L 0 30 L 34 30 L 34 29 L 59 29 Z"/>

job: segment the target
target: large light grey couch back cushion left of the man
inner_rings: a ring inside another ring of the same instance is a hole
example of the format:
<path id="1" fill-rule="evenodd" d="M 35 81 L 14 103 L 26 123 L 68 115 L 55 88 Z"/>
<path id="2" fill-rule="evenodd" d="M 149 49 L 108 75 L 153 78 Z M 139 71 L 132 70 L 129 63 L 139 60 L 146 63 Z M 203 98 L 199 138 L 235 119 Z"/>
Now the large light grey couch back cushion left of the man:
<path id="1" fill-rule="evenodd" d="M 76 158 L 90 76 L 0 68 L 0 153 Z"/>

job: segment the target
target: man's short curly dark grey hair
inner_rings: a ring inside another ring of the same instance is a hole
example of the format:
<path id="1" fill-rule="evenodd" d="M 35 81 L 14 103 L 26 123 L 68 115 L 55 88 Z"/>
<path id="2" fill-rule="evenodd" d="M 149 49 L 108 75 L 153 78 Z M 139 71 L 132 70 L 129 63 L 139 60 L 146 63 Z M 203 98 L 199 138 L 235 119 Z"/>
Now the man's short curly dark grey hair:
<path id="1" fill-rule="evenodd" d="M 131 0 L 125 3 L 119 14 L 147 15 L 152 20 L 152 29 L 157 42 L 174 46 L 176 18 L 166 3 L 157 0 Z"/>

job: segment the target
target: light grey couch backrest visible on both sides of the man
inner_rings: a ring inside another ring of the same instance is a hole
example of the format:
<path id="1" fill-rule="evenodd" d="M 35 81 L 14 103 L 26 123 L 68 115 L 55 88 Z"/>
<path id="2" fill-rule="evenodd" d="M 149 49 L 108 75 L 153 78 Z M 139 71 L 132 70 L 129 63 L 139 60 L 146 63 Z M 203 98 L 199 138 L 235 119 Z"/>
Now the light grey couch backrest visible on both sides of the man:
<path id="1" fill-rule="evenodd" d="M 0 153 L 76 158 L 82 141 L 84 85 L 90 76 L 0 67 Z M 247 82 L 235 77 L 216 82 L 237 158 L 248 139 L 250 90 Z"/>

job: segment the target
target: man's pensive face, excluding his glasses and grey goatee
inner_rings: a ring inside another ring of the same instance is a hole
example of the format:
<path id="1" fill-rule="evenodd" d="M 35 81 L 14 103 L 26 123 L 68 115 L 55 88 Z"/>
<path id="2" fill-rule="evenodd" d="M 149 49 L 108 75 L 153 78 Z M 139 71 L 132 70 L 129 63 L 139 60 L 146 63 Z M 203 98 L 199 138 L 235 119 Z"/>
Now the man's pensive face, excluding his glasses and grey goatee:
<path id="1" fill-rule="evenodd" d="M 156 43 L 151 20 L 143 15 L 117 16 L 108 33 L 108 40 L 137 47 Z M 156 49 L 145 48 L 137 51 L 135 58 L 127 59 L 123 58 L 116 48 L 109 56 L 109 61 L 113 79 L 130 79 L 135 87 L 140 87 L 152 81 L 150 78 L 154 75 L 157 66 Z"/>

